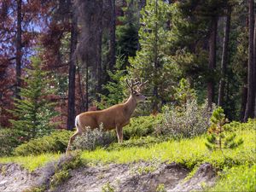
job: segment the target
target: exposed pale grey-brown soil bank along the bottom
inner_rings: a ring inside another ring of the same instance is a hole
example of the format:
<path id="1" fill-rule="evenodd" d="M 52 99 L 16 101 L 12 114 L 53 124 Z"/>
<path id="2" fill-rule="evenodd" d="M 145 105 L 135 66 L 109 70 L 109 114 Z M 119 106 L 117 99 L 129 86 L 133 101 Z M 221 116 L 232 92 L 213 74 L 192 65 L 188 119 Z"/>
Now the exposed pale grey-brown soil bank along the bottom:
<path id="1" fill-rule="evenodd" d="M 67 159 L 62 157 L 58 162 L 49 163 L 32 173 L 16 164 L 0 165 L 0 191 L 24 191 L 42 184 L 49 189 L 55 167 Z M 176 163 L 83 166 L 72 170 L 71 177 L 55 191 L 102 191 L 107 184 L 114 191 L 155 191 L 160 184 L 164 184 L 167 191 L 191 191 L 202 190 L 202 183 L 209 186 L 215 181 L 215 172 L 210 164 L 201 165 L 193 177 L 184 181 L 188 174 L 188 169 Z"/>

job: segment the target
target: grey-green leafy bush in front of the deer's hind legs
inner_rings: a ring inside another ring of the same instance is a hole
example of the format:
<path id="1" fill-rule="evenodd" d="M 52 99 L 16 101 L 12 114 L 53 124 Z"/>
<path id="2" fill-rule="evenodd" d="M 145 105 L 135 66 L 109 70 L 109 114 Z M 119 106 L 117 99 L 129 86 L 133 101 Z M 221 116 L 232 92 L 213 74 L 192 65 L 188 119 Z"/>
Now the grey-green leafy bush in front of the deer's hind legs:
<path id="1" fill-rule="evenodd" d="M 94 150 L 97 147 L 108 147 L 110 143 L 116 141 L 113 131 L 102 131 L 100 128 L 85 131 L 82 136 L 76 137 L 74 140 L 73 149 Z"/>

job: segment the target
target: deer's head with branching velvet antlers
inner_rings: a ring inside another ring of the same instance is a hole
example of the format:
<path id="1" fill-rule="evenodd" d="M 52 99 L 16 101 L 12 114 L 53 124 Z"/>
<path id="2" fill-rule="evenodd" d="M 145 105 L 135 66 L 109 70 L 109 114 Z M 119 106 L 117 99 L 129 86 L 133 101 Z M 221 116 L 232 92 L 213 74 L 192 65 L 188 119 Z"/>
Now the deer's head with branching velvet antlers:
<path id="1" fill-rule="evenodd" d="M 125 82 L 131 90 L 132 98 L 134 98 L 136 102 L 144 102 L 145 100 L 147 100 L 147 97 L 143 96 L 143 94 L 141 94 L 141 91 L 143 90 L 144 84 L 147 84 L 148 81 L 143 82 L 143 79 L 141 81 L 131 79 L 129 82 L 128 79 L 125 79 Z"/>

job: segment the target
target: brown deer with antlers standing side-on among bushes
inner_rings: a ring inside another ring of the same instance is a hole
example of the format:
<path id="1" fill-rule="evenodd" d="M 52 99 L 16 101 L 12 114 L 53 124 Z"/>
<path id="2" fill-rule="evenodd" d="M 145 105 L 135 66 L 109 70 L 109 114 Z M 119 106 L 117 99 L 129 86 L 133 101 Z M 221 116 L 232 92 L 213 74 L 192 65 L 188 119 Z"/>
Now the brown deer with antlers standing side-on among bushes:
<path id="1" fill-rule="evenodd" d="M 147 97 L 143 96 L 141 91 L 148 81 L 143 82 L 143 79 L 141 81 L 125 79 L 125 83 L 130 89 L 130 96 L 126 102 L 99 111 L 79 113 L 76 116 L 76 131 L 69 139 L 66 154 L 70 151 L 71 145 L 76 137 L 81 136 L 88 129 L 93 130 L 99 128 L 100 125 L 103 125 L 103 131 L 115 129 L 118 142 L 123 143 L 123 127 L 130 124 L 131 114 L 137 108 L 137 103 L 147 100 Z"/>

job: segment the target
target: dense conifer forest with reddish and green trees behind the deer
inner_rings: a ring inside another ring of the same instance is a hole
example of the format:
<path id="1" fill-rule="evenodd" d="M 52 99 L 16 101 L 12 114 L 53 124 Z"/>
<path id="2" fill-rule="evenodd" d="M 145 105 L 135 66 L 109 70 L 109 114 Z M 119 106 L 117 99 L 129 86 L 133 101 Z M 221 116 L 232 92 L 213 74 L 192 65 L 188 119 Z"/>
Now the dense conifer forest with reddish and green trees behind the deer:
<path id="1" fill-rule="evenodd" d="M 139 115 L 177 105 L 185 79 L 198 102 L 216 103 L 229 119 L 255 117 L 253 1 L 1 0 L 0 7 L 1 128 L 38 118 L 72 130 L 76 114 L 123 102 L 126 78 L 148 79 Z M 29 72 L 37 67 L 39 74 Z"/>

